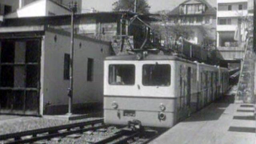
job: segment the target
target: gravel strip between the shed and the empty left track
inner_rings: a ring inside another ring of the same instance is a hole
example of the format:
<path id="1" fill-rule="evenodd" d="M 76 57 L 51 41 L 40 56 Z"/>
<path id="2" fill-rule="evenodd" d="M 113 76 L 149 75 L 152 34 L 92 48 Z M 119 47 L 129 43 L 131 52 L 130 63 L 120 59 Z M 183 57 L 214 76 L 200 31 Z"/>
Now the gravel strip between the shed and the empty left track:
<path id="1" fill-rule="evenodd" d="M 0 116 L 2 117 L 2 115 Z M 71 124 L 76 122 L 86 122 L 90 120 L 97 120 L 99 118 L 86 118 L 82 120 L 60 120 L 60 119 L 49 119 L 49 118 L 36 118 L 36 117 L 20 117 L 10 119 L 4 122 L 0 121 L 0 135 L 9 134 L 14 132 L 22 132 L 26 130 L 34 130 L 38 128 L 47 128 L 51 126 L 60 126 L 63 124 Z"/>

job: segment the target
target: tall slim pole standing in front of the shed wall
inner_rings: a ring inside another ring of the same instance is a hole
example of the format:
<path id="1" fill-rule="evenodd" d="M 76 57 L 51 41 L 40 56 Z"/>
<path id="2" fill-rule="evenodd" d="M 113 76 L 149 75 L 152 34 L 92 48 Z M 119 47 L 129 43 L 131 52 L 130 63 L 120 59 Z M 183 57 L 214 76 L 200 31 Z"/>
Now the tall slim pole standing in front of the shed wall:
<path id="1" fill-rule="evenodd" d="M 71 42 L 70 42 L 70 64 L 69 64 L 69 88 L 68 88 L 68 115 L 72 114 L 73 103 L 73 63 L 74 63 L 74 14 L 77 11 L 77 2 L 70 2 L 69 8 L 71 10 Z"/>

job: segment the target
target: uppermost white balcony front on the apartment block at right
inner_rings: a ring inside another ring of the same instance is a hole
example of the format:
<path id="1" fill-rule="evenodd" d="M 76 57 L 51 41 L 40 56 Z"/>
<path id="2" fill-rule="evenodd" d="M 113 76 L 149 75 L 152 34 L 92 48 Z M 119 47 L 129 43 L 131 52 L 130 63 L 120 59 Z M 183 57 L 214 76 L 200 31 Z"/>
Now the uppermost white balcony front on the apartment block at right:
<path id="1" fill-rule="evenodd" d="M 217 11 L 218 18 L 247 16 L 248 10 L 220 10 Z"/>

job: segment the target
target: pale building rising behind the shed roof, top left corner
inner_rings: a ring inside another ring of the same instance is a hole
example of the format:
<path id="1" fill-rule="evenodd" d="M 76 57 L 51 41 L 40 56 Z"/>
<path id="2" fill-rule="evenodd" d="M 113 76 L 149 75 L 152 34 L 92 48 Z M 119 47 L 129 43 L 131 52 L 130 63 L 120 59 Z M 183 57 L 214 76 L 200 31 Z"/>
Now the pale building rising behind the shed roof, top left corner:
<path id="1" fill-rule="evenodd" d="M 19 18 L 68 14 L 68 4 L 77 2 L 81 12 L 82 0 L 0 0 L 0 16 Z"/>

